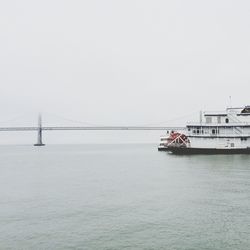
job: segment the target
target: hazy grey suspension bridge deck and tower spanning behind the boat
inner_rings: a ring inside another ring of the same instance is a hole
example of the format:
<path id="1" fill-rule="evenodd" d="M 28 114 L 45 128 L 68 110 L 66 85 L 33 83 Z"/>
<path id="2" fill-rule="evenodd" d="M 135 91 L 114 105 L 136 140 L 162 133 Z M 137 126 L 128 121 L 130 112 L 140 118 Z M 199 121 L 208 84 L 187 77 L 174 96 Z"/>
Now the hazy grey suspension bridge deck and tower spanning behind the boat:
<path id="1" fill-rule="evenodd" d="M 0 132 L 8 131 L 36 131 L 37 132 L 37 142 L 34 146 L 44 146 L 42 139 L 43 131 L 76 131 L 76 130 L 123 130 L 123 131 L 139 131 L 139 130 L 182 130 L 184 127 L 168 127 L 168 126 L 43 126 L 42 116 L 38 116 L 37 126 L 13 126 L 13 127 L 0 127 Z"/>

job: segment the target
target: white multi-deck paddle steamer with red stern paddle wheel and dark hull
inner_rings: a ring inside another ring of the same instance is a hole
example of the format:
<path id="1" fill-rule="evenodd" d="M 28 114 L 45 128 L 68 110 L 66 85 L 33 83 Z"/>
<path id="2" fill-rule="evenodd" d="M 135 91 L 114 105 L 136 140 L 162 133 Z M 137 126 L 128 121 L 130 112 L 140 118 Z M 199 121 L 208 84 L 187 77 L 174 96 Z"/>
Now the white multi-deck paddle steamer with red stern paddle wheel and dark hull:
<path id="1" fill-rule="evenodd" d="M 250 154 L 250 106 L 201 112 L 184 131 L 168 131 L 158 150 L 175 154 Z"/>

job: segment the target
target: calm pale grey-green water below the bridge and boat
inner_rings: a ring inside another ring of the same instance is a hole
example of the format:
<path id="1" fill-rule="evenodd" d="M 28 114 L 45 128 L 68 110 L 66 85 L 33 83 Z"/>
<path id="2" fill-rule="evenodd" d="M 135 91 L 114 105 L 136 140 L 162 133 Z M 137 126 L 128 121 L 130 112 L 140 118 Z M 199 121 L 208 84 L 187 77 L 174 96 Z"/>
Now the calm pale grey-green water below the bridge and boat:
<path id="1" fill-rule="evenodd" d="M 250 155 L 0 146 L 0 249 L 250 249 Z"/>

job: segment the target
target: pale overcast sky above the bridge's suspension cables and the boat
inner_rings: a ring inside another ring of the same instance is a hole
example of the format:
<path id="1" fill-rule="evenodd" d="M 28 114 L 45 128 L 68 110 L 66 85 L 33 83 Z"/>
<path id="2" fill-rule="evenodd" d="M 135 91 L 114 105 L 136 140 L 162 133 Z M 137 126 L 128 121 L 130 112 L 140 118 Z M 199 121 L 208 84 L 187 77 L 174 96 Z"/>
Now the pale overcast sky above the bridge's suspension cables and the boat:
<path id="1" fill-rule="evenodd" d="M 247 0 L 0 1 L 1 120 L 158 124 L 250 104 L 249 69 Z"/>

